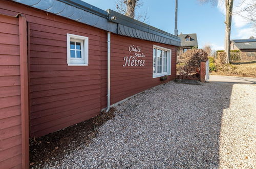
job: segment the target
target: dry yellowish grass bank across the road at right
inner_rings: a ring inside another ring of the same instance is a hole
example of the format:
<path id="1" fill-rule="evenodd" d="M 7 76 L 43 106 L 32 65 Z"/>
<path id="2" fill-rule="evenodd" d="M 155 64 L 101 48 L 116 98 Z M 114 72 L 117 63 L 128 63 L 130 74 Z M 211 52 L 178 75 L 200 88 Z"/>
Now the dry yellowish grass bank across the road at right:
<path id="1" fill-rule="evenodd" d="M 256 77 L 256 61 L 232 61 L 231 64 L 217 64 L 211 75 Z"/>

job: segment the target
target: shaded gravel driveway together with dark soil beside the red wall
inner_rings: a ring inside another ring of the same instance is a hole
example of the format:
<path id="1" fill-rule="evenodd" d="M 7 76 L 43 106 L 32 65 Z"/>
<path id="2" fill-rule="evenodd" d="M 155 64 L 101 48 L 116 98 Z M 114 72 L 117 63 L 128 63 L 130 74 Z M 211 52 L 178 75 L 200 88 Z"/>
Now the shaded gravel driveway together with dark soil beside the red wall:
<path id="1" fill-rule="evenodd" d="M 107 125 L 101 131 L 101 139 L 108 139 L 90 144 L 90 149 L 81 150 L 83 155 L 77 151 L 69 156 L 67 151 L 79 150 L 81 144 L 96 139 L 95 126 L 112 119 L 114 109 L 65 130 L 31 139 L 31 167 L 49 167 L 67 155 L 69 163 L 58 163 L 59 167 L 72 167 L 80 160 L 85 166 L 103 168 L 218 168 L 222 114 L 229 108 L 231 92 L 232 83 L 215 82 L 202 86 L 169 82 L 147 90 L 116 108 L 120 114 L 112 127 Z M 92 156 L 92 150 L 99 153 Z"/>

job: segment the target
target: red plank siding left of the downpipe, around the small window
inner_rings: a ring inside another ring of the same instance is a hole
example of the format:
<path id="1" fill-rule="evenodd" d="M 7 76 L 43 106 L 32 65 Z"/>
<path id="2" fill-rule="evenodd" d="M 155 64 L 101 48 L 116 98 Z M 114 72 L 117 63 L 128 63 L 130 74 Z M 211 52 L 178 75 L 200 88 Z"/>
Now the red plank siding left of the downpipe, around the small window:
<path id="1" fill-rule="evenodd" d="M 31 136 L 99 114 L 100 63 L 106 54 L 101 45 L 106 43 L 106 32 L 15 2 L 1 3 L 0 13 L 22 13 L 29 23 Z M 89 66 L 67 65 L 67 33 L 89 37 Z"/>

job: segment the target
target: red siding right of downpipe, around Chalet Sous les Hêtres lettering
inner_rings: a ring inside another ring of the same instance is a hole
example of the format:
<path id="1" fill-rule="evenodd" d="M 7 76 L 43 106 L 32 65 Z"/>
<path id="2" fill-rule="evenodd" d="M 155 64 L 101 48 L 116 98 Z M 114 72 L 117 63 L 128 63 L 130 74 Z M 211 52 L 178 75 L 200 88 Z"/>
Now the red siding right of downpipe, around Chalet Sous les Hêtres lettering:
<path id="1" fill-rule="evenodd" d="M 125 56 L 134 55 L 129 52 L 129 46 L 139 46 L 144 53 L 144 67 L 123 67 Z M 157 45 L 172 50 L 171 75 L 166 81 L 160 81 L 160 77 L 153 78 L 153 46 Z M 104 60 L 106 61 L 106 60 Z M 106 64 L 106 62 L 103 62 Z M 102 64 L 103 64 L 102 63 Z M 152 41 L 140 40 L 131 37 L 111 34 L 111 104 L 135 95 L 146 89 L 175 79 L 176 76 L 176 47 L 154 43 Z M 101 74 L 102 92 L 101 101 L 106 100 L 106 74 Z M 106 102 L 104 102 L 105 105 Z"/>

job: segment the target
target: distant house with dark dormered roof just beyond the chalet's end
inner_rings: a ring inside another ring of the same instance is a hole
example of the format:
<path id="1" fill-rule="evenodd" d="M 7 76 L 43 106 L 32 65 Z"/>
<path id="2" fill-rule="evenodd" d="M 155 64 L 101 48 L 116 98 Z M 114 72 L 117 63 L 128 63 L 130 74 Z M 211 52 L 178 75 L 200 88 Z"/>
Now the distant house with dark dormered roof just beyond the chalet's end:
<path id="1" fill-rule="evenodd" d="M 189 33 L 189 34 L 182 34 L 178 35 L 181 39 L 181 46 L 177 48 L 177 55 L 186 52 L 187 50 L 192 49 L 194 46 L 198 47 L 197 42 L 197 34 L 196 33 Z"/>

